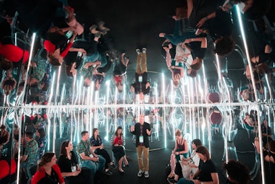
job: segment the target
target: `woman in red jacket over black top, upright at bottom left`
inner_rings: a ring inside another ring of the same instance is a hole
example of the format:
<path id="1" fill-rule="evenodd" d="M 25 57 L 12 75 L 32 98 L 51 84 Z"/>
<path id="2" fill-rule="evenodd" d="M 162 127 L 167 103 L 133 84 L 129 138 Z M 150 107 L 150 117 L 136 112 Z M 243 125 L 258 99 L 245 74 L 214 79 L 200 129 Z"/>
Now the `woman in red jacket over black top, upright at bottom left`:
<path id="1" fill-rule="evenodd" d="M 31 183 L 65 184 L 56 161 L 56 154 L 53 152 L 45 153 L 39 161 L 38 170 L 32 177 Z"/>

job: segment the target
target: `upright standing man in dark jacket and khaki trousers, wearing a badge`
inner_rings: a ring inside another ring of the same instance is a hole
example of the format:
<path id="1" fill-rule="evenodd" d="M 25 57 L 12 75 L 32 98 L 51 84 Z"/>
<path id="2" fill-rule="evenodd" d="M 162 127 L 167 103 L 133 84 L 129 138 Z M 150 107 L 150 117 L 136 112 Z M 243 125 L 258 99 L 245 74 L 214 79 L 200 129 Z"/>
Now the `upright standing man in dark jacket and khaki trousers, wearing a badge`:
<path id="1" fill-rule="evenodd" d="M 138 167 L 140 171 L 137 173 L 137 176 L 149 177 L 149 139 L 148 136 L 151 136 L 151 127 L 150 124 L 144 122 L 144 115 L 140 114 L 139 123 L 131 126 L 131 133 L 135 134 L 135 146 L 137 147 L 137 159 Z M 143 156 L 142 156 L 143 154 Z"/>

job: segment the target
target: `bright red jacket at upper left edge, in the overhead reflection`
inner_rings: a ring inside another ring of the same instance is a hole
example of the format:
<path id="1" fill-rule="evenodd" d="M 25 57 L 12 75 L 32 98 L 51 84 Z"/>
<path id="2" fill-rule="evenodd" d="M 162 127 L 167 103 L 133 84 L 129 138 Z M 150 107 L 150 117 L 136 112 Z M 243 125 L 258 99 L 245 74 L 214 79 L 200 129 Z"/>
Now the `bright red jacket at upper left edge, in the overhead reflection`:
<path id="1" fill-rule="evenodd" d="M 8 59 L 11 62 L 19 62 L 21 61 L 23 57 L 23 49 L 17 47 L 16 45 L 12 44 L 5 44 L 2 45 L 0 43 L 0 54 L 5 57 L 5 59 Z M 29 59 L 29 52 L 28 50 L 25 50 L 24 57 L 23 57 L 23 63 L 25 63 Z"/>

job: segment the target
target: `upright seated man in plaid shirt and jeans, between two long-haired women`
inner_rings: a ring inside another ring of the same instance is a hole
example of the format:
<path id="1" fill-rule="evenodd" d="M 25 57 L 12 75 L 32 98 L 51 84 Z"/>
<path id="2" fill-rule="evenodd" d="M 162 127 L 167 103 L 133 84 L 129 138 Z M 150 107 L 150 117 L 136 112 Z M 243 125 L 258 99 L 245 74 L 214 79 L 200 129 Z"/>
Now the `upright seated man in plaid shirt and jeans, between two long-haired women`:
<path id="1" fill-rule="evenodd" d="M 88 167 L 91 170 L 91 174 L 95 177 L 96 171 L 102 171 L 105 164 L 105 159 L 98 154 L 95 154 L 91 148 L 89 141 L 89 132 L 81 132 L 81 141 L 76 145 L 76 152 L 80 156 L 80 164 Z"/>

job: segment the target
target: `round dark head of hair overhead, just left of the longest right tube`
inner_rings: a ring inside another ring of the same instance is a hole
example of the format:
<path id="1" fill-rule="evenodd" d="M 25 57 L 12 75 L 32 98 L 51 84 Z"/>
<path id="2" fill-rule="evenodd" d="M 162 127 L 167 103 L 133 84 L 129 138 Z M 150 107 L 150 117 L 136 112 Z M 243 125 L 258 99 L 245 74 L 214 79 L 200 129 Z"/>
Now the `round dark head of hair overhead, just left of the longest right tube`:
<path id="1" fill-rule="evenodd" d="M 235 43 L 231 36 L 223 36 L 216 40 L 213 52 L 214 54 L 217 53 L 219 57 L 226 57 L 233 52 Z"/>

